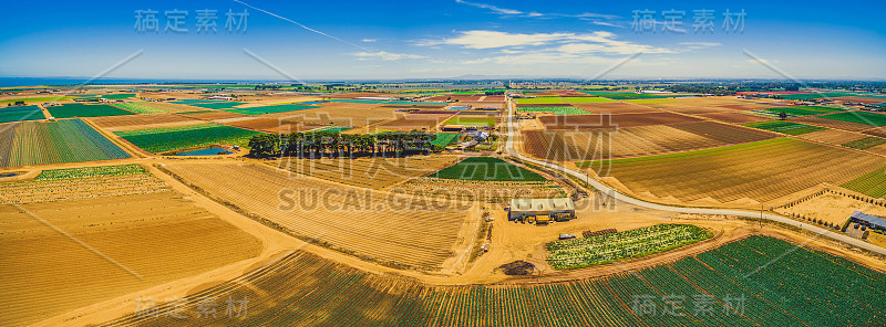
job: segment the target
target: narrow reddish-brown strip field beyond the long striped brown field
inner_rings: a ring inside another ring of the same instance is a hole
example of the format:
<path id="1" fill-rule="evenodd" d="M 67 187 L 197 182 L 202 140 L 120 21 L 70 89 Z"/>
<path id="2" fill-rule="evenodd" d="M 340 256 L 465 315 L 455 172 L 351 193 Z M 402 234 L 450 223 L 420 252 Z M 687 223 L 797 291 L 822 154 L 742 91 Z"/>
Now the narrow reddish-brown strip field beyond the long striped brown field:
<path id="1" fill-rule="evenodd" d="M 692 123 L 701 119 L 671 114 L 614 114 L 614 115 L 577 115 L 577 116 L 543 116 L 538 118 L 547 129 L 596 129 L 596 128 L 626 128 L 649 125 L 670 125 Z"/>

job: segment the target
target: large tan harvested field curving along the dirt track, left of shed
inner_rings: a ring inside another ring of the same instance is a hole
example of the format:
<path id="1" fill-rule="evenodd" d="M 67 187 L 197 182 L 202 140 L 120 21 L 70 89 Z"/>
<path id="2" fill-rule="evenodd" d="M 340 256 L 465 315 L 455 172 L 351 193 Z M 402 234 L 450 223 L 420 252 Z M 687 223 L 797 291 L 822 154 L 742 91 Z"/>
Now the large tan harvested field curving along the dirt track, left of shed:
<path id="1" fill-rule="evenodd" d="M 395 266 L 440 268 L 455 255 L 472 205 L 342 187 L 266 165 L 183 164 L 167 169 L 262 223 Z"/>

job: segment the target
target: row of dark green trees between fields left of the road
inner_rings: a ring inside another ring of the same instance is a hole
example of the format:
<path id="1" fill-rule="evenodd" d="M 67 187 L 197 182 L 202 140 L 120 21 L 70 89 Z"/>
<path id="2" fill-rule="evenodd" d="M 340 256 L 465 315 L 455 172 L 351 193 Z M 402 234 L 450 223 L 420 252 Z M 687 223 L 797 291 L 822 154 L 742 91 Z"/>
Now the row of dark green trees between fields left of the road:
<path id="1" fill-rule="evenodd" d="M 440 150 L 431 143 L 436 136 L 425 131 L 379 133 L 370 135 L 338 131 L 305 131 L 287 135 L 262 134 L 249 140 L 250 155 L 257 158 L 292 156 L 320 157 L 403 157 Z"/>

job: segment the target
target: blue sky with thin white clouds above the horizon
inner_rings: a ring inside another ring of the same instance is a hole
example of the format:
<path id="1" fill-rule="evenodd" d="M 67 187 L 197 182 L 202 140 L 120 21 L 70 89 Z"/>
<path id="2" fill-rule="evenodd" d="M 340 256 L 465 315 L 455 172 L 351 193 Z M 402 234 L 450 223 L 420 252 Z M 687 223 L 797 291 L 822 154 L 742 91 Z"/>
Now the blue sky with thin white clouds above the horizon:
<path id="1" fill-rule="evenodd" d="M 878 1 L 12 1 L 0 76 L 93 76 L 142 51 L 106 76 L 886 80 Z M 158 33 L 134 28 L 148 9 Z M 204 9 L 217 10 L 217 33 L 197 33 Z M 713 31 L 696 33 L 702 9 Z M 187 32 L 164 31 L 173 10 L 187 11 Z M 247 10 L 245 33 L 225 30 L 228 10 Z M 656 32 L 633 28 L 635 10 L 651 11 Z M 662 31 L 671 10 L 684 33 Z M 744 10 L 742 32 L 723 30 L 727 10 Z"/>

